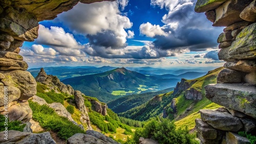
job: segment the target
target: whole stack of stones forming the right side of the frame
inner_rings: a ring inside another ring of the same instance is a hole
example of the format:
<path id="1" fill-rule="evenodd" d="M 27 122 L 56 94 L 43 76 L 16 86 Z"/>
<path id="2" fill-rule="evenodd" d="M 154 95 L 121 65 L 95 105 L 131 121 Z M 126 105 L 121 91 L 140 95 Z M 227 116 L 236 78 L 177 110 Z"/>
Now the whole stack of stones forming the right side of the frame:
<path id="1" fill-rule="evenodd" d="M 256 130 L 256 0 L 198 0 L 212 26 L 226 27 L 218 38 L 226 61 L 206 98 L 226 108 L 200 110 L 196 128 L 201 143 L 250 143 L 239 131 Z"/>

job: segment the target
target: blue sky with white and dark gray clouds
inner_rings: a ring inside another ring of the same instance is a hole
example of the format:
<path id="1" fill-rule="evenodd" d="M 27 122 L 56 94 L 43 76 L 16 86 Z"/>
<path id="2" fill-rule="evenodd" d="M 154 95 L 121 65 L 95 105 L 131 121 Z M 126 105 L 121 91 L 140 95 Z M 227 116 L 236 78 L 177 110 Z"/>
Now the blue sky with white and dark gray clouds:
<path id="1" fill-rule="evenodd" d="M 218 35 L 194 0 L 78 3 L 39 22 L 39 36 L 21 55 L 41 66 L 222 66 Z"/>

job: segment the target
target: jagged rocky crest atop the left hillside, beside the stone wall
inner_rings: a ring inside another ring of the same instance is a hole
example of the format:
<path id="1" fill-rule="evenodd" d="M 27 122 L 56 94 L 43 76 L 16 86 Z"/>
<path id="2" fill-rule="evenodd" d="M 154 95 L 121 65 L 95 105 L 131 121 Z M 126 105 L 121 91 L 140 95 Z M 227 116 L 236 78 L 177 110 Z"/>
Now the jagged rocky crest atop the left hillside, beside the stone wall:
<path id="1" fill-rule="evenodd" d="M 47 85 L 50 89 L 55 92 L 67 93 L 69 95 L 74 94 L 74 89 L 70 85 L 63 84 L 56 76 L 47 75 L 44 68 L 40 69 L 40 72 L 35 77 L 36 82 Z M 58 91 L 59 90 L 59 91 Z M 73 93 L 73 94 L 72 94 Z"/>

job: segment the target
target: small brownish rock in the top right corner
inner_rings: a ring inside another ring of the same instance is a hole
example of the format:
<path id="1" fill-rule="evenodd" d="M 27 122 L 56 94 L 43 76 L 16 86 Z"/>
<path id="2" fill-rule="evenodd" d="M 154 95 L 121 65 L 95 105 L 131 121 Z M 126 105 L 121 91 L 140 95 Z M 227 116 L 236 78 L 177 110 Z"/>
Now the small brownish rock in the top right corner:
<path id="1" fill-rule="evenodd" d="M 246 21 L 256 21 L 256 0 L 240 13 L 240 17 Z"/>

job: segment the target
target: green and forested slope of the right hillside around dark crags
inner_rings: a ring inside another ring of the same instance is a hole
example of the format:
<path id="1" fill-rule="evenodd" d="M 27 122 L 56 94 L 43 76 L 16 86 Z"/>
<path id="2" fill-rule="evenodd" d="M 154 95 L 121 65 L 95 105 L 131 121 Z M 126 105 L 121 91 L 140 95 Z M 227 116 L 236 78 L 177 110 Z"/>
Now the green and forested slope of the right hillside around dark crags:
<path id="1" fill-rule="evenodd" d="M 175 124 L 177 125 L 177 127 L 188 126 L 189 129 L 192 129 L 195 127 L 195 119 L 200 117 L 200 114 L 198 113 L 200 109 L 215 109 L 220 107 L 219 105 L 214 104 L 207 98 L 205 98 L 204 86 L 216 83 L 216 78 L 221 69 L 223 69 L 223 67 L 211 70 L 207 75 L 203 77 L 194 80 L 187 80 L 190 83 L 190 88 L 195 88 L 202 92 L 203 99 L 200 101 L 185 99 L 184 91 L 181 93 L 177 93 L 174 96 L 172 96 L 172 94 L 170 93 L 165 93 L 160 94 L 160 96 L 163 97 L 162 101 L 157 102 L 156 105 L 152 106 L 150 105 L 150 102 L 146 102 L 138 107 L 120 113 L 119 115 L 140 121 L 145 121 L 150 117 L 160 116 L 163 108 L 166 106 L 169 107 L 172 99 L 175 98 L 177 101 L 177 116 L 175 117 Z M 187 111 L 188 108 L 190 108 L 191 110 Z M 172 115 L 169 114 L 169 118 L 172 118 Z"/>

